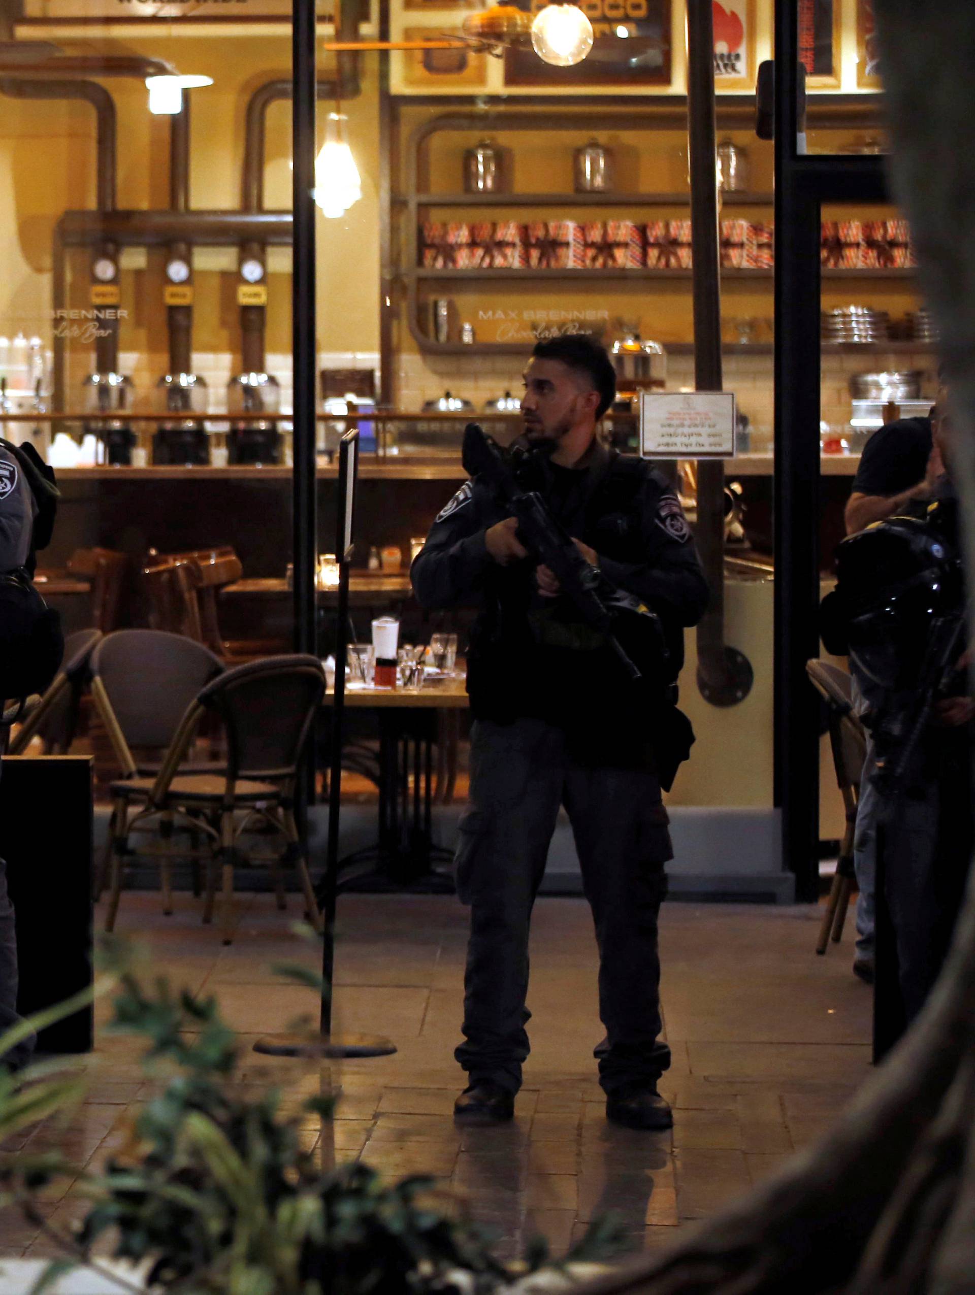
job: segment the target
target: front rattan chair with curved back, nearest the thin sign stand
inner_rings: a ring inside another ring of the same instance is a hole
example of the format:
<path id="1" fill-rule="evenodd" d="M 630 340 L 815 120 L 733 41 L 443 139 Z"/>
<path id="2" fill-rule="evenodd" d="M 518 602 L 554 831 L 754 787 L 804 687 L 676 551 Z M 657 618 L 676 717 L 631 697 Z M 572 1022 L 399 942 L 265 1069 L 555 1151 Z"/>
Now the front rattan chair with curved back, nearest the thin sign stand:
<path id="1" fill-rule="evenodd" d="M 321 930 L 304 843 L 294 817 L 298 763 L 325 692 L 325 673 L 315 657 L 267 657 L 229 670 L 207 684 L 183 717 L 155 778 L 126 778 L 113 783 L 114 837 L 110 848 L 111 895 L 105 929 L 113 930 L 122 892 L 122 869 L 132 853 L 131 834 L 161 816 L 197 828 L 211 843 L 203 921 L 214 913 L 216 865 L 221 866 L 221 929 L 224 944 L 233 938 L 233 866 L 237 842 L 251 826 L 281 835 L 281 856 L 269 856 L 278 908 L 285 894 L 277 870 L 293 864 L 302 884 L 308 918 Z M 180 772 L 197 728 L 215 714 L 227 733 L 224 773 Z M 131 811 L 135 807 L 135 813 Z M 251 853 L 251 859 L 256 857 Z"/>

